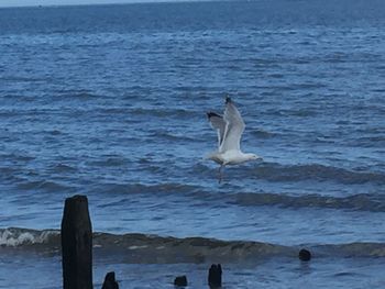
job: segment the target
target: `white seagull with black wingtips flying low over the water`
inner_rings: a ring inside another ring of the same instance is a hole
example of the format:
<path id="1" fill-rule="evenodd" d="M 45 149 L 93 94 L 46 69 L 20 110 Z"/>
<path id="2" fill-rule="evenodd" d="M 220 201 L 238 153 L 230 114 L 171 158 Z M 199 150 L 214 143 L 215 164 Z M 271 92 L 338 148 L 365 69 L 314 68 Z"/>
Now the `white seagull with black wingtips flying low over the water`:
<path id="1" fill-rule="evenodd" d="M 207 158 L 216 162 L 219 167 L 219 184 L 222 181 L 222 170 L 227 165 L 238 165 L 248 160 L 262 159 L 255 154 L 241 152 L 241 136 L 245 124 L 231 98 L 226 98 L 223 116 L 216 112 L 208 112 L 207 116 L 212 129 L 218 133 L 218 151 Z"/>

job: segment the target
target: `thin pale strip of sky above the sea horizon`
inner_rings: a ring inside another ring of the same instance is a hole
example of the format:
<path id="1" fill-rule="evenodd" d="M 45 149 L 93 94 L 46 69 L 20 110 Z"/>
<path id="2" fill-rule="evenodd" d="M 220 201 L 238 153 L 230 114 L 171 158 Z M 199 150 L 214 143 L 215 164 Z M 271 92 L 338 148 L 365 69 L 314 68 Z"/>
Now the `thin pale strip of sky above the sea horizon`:
<path id="1" fill-rule="evenodd" d="M 0 7 L 62 5 L 62 4 L 106 4 L 150 2 L 150 0 L 0 0 Z"/>

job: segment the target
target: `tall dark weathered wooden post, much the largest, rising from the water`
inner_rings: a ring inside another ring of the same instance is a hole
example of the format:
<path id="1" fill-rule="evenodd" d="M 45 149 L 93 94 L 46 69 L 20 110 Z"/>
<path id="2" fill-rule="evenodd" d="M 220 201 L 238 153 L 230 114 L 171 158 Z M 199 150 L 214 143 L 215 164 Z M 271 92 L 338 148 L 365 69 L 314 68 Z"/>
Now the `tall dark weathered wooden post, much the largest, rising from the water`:
<path id="1" fill-rule="evenodd" d="M 92 288 L 92 227 L 86 196 L 66 199 L 62 220 L 63 288 Z"/>

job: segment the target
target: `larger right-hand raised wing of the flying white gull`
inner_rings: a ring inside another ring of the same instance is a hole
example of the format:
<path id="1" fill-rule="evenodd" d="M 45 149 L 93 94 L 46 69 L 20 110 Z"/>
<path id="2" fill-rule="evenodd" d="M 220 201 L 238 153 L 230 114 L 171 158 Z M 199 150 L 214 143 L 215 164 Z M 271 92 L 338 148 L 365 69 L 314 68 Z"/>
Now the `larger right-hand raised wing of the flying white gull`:
<path id="1" fill-rule="evenodd" d="M 226 122 L 226 130 L 219 151 L 221 153 L 224 153 L 230 149 L 240 151 L 241 136 L 244 131 L 245 124 L 242 120 L 240 112 L 238 111 L 237 107 L 229 97 L 226 98 L 223 120 Z"/>

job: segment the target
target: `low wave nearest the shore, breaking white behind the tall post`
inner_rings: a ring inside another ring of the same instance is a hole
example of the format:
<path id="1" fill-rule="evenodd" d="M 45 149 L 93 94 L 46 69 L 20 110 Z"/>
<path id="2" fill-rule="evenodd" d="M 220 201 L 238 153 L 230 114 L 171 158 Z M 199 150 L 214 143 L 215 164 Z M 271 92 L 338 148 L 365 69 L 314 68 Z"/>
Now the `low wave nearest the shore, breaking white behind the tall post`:
<path id="1" fill-rule="evenodd" d="M 270 257 L 297 257 L 301 246 L 283 246 L 255 241 L 221 241 L 205 237 L 177 238 L 148 234 L 94 233 L 94 253 L 121 258 L 124 263 L 240 263 Z M 57 253 L 58 230 L 9 227 L 0 230 L 0 246 Z M 385 257 L 385 243 L 356 242 L 307 246 L 315 257 Z"/>

